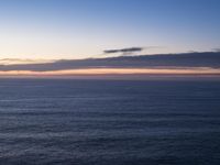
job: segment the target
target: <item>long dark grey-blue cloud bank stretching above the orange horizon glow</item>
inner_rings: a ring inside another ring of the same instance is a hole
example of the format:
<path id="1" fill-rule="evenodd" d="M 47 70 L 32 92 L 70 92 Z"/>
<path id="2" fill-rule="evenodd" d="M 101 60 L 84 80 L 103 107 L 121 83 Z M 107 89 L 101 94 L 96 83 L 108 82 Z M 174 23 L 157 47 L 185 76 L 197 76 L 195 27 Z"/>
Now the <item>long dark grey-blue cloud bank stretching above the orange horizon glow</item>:
<path id="1" fill-rule="evenodd" d="M 0 65 L 0 70 L 62 70 L 79 68 L 211 67 L 220 69 L 220 52 L 161 54 L 56 61 L 45 64 Z"/>

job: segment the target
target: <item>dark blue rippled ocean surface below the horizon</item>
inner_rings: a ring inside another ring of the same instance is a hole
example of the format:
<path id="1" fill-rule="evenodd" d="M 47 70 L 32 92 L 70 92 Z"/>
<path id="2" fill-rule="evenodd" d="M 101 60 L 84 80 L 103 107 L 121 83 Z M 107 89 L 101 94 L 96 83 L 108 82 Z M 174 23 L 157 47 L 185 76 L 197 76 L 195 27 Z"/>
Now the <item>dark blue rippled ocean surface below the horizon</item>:
<path id="1" fill-rule="evenodd" d="M 0 79 L 0 165 L 220 165 L 220 81 Z"/>

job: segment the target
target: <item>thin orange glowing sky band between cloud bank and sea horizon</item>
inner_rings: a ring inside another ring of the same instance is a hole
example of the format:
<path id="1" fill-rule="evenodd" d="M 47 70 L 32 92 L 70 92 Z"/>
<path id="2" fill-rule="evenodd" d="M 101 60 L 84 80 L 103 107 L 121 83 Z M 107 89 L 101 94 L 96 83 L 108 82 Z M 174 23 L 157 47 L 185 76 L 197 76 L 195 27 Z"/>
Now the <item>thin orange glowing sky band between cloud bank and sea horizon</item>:
<path id="1" fill-rule="evenodd" d="M 92 76 L 92 75 L 220 75 L 213 68 L 87 68 L 50 72 L 0 70 L 0 76 Z"/>

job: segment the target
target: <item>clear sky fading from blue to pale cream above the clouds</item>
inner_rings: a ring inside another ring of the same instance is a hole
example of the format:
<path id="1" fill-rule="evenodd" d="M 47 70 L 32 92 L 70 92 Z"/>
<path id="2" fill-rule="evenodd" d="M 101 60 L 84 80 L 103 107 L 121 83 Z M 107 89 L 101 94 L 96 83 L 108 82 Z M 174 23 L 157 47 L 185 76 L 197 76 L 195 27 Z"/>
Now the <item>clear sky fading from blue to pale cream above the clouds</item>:
<path id="1" fill-rule="evenodd" d="M 0 0 L 0 58 L 85 58 L 220 47 L 219 0 Z"/>

